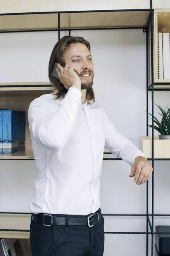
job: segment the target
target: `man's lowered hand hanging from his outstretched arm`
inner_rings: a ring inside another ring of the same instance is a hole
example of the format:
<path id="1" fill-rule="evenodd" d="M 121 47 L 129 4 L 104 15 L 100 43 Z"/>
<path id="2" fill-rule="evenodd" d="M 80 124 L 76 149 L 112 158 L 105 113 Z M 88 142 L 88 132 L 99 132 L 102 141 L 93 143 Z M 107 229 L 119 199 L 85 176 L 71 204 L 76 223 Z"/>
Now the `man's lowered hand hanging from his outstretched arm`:
<path id="1" fill-rule="evenodd" d="M 135 163 L 131 167 L 131 173 L 129 177 L 134 177 L 134 182 L 137 185 L 145 183 L 150 175 L 152 174 L 153 168 L 147 162 L 147 159 L 144 157 L 136 157 Z"/>

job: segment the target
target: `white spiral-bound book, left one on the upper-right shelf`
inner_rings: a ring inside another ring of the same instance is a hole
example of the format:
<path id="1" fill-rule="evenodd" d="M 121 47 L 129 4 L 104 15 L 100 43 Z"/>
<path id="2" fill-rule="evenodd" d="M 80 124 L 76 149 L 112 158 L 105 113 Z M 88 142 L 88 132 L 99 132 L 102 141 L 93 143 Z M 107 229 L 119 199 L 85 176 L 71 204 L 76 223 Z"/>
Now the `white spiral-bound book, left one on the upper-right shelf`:
<path id="1" fill-rule="evenodd" d="M 158 33 L 158 79 L 163 79 L 162 33 Z"/>

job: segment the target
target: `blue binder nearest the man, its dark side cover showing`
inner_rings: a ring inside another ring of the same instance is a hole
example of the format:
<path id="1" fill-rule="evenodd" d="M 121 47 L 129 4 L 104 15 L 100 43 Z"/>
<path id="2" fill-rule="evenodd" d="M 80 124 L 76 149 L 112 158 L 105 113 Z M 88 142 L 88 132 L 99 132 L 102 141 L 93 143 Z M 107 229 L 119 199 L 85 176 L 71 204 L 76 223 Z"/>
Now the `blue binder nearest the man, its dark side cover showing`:
<path id="1" fill-rule="evenodd" d="M 3 154 L 26 148 L 26 113 L 3 110 Z"/>

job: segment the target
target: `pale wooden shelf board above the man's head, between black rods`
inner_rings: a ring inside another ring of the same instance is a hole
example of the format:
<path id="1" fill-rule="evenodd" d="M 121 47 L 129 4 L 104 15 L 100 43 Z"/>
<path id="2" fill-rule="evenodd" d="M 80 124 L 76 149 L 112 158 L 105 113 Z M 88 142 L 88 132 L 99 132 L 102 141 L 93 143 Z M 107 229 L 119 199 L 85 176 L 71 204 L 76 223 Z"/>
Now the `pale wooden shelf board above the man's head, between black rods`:
<path id="1" fill-rule="evenodd" d="M 146 26 L 149 11 L 63 13 L 61 29 Z M 58 29 L 58 14 L 0 16 L 0 31 Z"/>

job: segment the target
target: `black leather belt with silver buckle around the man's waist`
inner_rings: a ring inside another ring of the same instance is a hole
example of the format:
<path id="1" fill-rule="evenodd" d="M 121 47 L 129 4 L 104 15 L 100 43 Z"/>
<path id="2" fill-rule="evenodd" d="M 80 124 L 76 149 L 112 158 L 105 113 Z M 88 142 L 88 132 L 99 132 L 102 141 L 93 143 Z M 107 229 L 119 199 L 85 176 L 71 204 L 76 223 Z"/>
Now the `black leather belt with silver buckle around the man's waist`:
<path id="1" fill-rule="evenodd" d="M 66 220 L 68 225 L 88 225 L 88 227 L 93 227 L 95 224 L 99 223 L 102 218 L 101 209 L 97 212 L 89 214 L 85 217 L 74 217 L 74 215 L 66 217 L 67 215 L 57 215 L 57 214 L 32 214 L 31 220 L 42 224 L 43 226 L 50 227 L 51 225 L 66 225 Z"/>

